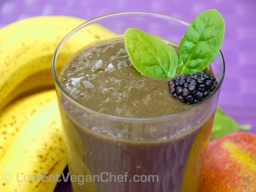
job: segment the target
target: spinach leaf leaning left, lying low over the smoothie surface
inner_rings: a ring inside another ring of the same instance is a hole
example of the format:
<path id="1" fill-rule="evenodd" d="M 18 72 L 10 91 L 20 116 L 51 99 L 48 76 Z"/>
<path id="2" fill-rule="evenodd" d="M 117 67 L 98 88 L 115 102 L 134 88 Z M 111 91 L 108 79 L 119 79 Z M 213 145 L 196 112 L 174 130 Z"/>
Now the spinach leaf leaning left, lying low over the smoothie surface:
<path id="1" fill-rule="evenodd" d="M 178 67 L 175 50 L 161 39 L 129 28 L 124 34 L 125 47 L 134 67 L 151 78 L 173 78 Z"/>

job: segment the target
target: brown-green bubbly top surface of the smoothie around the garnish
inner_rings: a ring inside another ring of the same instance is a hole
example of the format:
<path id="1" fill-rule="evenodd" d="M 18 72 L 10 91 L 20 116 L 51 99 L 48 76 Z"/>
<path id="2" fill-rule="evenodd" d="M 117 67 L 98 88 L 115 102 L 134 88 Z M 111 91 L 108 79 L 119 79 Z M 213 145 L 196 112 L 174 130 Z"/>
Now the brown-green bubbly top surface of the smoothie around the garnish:
<path id="1" fill-rule="evenodd" d="M 178 45 L 166 43 L 178 52 Z M 169 80 L 138 72 L 123 37 L 80 50 L 60 74 L 61 86 L 81 104 L 101 113 L 132 118 L 166 116 L 193 106 L 169 93 Z"/>

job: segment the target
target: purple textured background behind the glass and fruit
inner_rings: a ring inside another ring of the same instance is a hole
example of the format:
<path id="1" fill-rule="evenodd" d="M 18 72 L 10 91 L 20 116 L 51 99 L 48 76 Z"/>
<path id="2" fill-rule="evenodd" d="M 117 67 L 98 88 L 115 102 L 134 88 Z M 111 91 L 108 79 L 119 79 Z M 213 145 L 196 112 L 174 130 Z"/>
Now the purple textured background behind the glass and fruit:
<path id="1" fill-rule="evenodd" d="M 256 1 L 255 0 L 0 0 L 0 28 L 37 15 L 70 15 L 83 19 L 117 12 L 147 11 L 189 23 L 207 9 L 217 9 L 226 23 L 222 53 L 226 75 L 218 104 L 256 133 Z M 67 170 L 66 170 L 67 171 Z M 71 192 L 69 183 L 56 192 Z"/>

